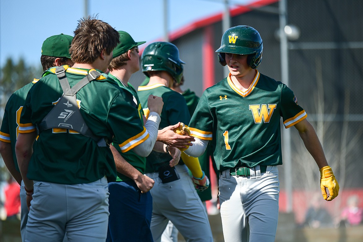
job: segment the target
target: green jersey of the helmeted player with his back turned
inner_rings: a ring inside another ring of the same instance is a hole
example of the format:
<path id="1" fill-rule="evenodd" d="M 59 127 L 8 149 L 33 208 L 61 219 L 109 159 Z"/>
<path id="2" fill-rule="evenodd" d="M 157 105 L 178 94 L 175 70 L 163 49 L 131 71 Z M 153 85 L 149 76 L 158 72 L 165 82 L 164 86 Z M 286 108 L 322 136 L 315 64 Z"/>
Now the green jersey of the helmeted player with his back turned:
<path id="1" fill-rule="evenodd" d="M 162 97 L 164 102 L 160 115 L 161 121 L 159 129 L 174 125 L 178 122 L 183 122 L 185 125 L 188 125 L 190 114 L 185 99 L 180 93 L 171 90 L 163 84 L 139 86 L 138 95 L 141 106 L 144 108 L 145 116 L 149 113 L 147 99 L 151 94 Z M 158 167 L 168 165 L 170 160 L 171 156 L 169 154 L 151 151 L 151 154 L 146 158 L 146 173 L 157 171 Z"/>

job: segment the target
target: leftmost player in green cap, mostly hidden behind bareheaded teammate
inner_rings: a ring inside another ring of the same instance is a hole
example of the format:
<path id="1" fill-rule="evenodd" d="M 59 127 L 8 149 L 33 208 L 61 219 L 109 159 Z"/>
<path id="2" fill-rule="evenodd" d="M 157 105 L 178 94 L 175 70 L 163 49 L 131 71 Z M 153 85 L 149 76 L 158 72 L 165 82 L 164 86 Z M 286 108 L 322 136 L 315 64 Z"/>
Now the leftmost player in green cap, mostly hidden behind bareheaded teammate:
<path id="1" fill-rule="evenodd" d="M 40 61 L 43 71 L 53 66 L 62 66 L 67 64 L 73 66 L 70 59 L 69 47 L 73 37 L 69 35 L 54 35 L 48 37 L 42 44 Z M 33 80 L 26 84 L 24 87 L 15 91 L 9 98 L 4 111 L 3 123 L 1 124 L 0 131 L 0 152 L 3 157 L 4 163 L 10 171 L 11 175 L 16 179 L 20 185 L 20 234 L 21 239 L 25 241 L 25 226 L 28 221 L 28 207 L 26 206 L 26 195 L 24 190 L 24 183 L 21 178 L 19 166 L 15 155 L 15 143 L 19 132 L 19 119 L 20 113 L 23 109 L 26 95 L 30 88 L 38 81 Z"/>

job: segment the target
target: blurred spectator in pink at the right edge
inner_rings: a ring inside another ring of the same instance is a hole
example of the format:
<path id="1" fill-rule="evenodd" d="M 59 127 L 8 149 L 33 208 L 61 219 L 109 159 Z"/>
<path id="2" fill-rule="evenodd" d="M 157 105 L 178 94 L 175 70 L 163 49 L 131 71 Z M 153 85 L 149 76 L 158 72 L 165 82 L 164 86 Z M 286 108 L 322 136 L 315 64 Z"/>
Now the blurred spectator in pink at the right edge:
<path id="1" fill-rule="evenodd" d="M 359 225 L 362 222 L 363 209 L 358 207 L 358 196 L 351 195 L 347 199 L 347 207 L 343 209 L 340 224 Z"/>

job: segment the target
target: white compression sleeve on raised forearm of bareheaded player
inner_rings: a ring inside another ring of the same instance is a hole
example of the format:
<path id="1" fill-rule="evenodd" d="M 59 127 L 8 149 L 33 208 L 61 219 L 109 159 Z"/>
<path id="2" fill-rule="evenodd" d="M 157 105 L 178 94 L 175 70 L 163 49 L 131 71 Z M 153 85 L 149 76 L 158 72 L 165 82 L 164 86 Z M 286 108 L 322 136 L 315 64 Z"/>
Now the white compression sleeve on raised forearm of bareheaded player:
<path id="1" fill-rule="evenodd" d="M 138 146 L 132 148 L 132 150 L 140 156 L 146 157 L 150 155 L 152 148 L 154 148 L 154 144 L 156 138 L 158 137 L 158 129 L 160 124 L 160 115 L 156 112 L 150 112 L 149 117 L 145 123 L 145 128 L 149 133 L 149 138 L 144 142 L 139 144 Z"/>

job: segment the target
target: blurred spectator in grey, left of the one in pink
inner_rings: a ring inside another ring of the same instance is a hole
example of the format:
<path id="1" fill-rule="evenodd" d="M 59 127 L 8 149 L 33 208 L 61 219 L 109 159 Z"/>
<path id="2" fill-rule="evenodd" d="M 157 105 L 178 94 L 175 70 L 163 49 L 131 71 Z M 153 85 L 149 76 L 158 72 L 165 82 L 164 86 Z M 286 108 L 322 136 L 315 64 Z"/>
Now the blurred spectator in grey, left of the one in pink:
<path id="1" fill-rule="evenodd" d="M 304 226 L 311 228 L 330 227 L 333 221 L 329 212 L 323 207 L 321 194 L 316 194 L 311 200 L 309 209 L 306 211 Z"/>

